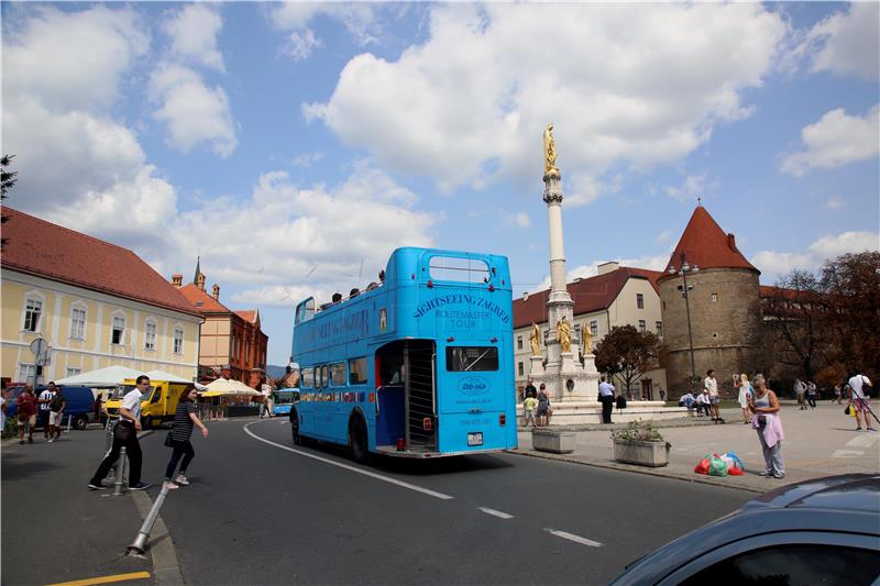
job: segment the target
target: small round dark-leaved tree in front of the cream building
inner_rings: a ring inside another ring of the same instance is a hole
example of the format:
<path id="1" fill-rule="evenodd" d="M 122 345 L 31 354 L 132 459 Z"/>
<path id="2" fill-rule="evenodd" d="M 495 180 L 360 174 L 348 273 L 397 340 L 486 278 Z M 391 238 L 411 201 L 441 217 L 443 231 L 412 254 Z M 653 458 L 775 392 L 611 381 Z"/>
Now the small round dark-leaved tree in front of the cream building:
<path id="1" fill-rule="evenodd" d="M 596 345 L 596 368 L 617 377 L 632 397 L 632 383 L 659 367 L 663 342 L 652 332 L 639 332 L 634 325 L 617 325 Z"/>

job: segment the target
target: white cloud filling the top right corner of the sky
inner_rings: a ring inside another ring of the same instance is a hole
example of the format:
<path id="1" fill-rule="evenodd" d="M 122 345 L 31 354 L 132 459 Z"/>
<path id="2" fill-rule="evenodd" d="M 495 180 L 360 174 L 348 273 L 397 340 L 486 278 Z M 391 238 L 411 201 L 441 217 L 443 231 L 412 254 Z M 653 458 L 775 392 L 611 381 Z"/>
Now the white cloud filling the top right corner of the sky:
<path id="1" fill-rule="evenodd" d="M 880 77 L 878 45 L 880 4 L 853 2 L 848 12 L 828 16 L 806 35 L 802 52 L 812 59 L 812 71 Z"/>

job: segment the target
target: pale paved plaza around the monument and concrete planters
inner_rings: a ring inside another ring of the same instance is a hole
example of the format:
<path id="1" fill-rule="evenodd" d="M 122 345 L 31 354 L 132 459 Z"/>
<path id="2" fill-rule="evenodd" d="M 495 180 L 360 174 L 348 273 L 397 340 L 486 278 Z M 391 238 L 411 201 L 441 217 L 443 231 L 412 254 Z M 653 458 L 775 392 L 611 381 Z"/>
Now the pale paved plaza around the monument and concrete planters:
<path id="1" fill-rule="evenodd" d="M 576 433 L 574 452 L 552 454 L 531 447 L 531 433 L 519 429 L 519 450 L 522 455 L 561 460 L 591 466 L 601 466 L 652 474 L 682 480 L 706 483 L 765 493 L 782 484 L 835 474 L 878 473 L 880 471 L 880 433 L 854 431 L 855 419 L 844 414 L 844 405 L 820 401 L 815 410 L 801 411 L 794 401 L 782 402 L 782 428 L 785 440 L 782 452 L 785 461 L 785 478 L 771 479 L 758 476 L 763 469 L 761 446 L 757 432 L 743 423 L 739 409 L 722 410 L 725 424 L 713 424 L 707 418 L 686 418 L 659 421 L 658 427 L 672 444 L 669 465 L 651 468 L 614 461 L 610 431 L 625 424 L 580 425 L 553 428 L 573 430 Z M 616 412 L 616 411 L 615 411 Z M 877 412 L 877 410 L 875 410 Z M 612 417 L 614 420 L 614 417 Z M 873 427 L 880 429 L 875 421 Z M 744 476 L 704 476 L 693 472 L 705 454 L 736 452 L 746 466 Z"/>

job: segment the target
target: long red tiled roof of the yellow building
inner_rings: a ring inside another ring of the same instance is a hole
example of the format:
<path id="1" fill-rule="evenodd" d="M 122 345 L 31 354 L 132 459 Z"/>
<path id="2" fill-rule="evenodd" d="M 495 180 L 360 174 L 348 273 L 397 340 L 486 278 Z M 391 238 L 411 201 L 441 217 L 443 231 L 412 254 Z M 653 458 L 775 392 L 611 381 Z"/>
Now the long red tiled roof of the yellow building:
<path id="1" fill-rule="evenodd" d="M 3 215 L 3 268 L 200 316 L 132 251 L 6 206 Z"/>

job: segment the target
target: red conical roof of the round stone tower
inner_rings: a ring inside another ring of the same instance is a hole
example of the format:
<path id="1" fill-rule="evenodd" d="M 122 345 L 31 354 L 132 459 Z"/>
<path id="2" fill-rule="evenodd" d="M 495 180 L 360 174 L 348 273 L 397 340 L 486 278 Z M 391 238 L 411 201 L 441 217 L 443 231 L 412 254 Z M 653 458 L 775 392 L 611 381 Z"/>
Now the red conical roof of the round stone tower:
<path id="1" fill-rule="evenodd" d="M 703 206 L 697 206 L 691 215 L 664 274 L 671 266 L 680 268 L 682 251 L 688 263 L 700 268 L 747 268 L 759 273 L 736 247 L 734 234 L 725 234 Z"/>

